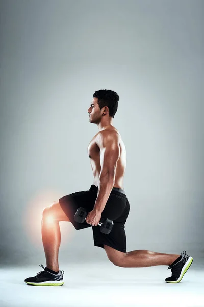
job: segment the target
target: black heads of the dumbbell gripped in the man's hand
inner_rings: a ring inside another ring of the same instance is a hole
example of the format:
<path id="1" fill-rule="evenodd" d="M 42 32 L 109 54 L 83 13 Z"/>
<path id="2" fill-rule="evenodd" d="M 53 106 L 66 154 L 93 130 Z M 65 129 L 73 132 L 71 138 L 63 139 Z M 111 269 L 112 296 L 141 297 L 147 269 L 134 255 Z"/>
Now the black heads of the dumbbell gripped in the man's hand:
<path id="1" fill-rule="evenodd" d="M 83 223 L 86 220 L 87 215 L 86 209 L 80 207 L 74 214 L 74 221 Z M 100 226 L 100 232 L 109 234 L 113 228 L 113 221 L 109 220 L 109 218 L 101 218 L 98 225 Z"/>

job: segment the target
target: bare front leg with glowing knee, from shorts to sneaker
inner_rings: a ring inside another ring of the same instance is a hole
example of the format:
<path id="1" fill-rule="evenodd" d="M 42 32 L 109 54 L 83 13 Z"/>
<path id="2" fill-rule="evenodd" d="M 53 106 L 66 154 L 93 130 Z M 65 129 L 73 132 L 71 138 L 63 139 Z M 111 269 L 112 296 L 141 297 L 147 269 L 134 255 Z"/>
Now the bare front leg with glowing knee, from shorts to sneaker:
<path id="1" fill-rule="evenodd" d="M 42 212 L 41 231 L 46 258 L 46 266 L 59 271 L 58 255 L 61 243 L 60 221 L 69 221 L 58 201 L 46 207 Z"/>

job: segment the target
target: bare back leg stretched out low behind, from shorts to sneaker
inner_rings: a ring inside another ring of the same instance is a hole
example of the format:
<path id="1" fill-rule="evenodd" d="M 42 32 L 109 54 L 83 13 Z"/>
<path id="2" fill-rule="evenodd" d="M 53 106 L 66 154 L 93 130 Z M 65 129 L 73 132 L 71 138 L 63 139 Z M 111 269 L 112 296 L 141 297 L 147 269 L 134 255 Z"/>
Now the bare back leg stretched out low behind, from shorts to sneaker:
<path id="1" fill-rule="evenodd" d="M 124 268 L 141 268 L 152 266 L 169 266 L 180 255 L 176 254 L 163 254 L 147 250 L 136 250 L 131 252 L 122 253 L 114 248 L 104 245 L 108 258 L 116 266 Z"/>

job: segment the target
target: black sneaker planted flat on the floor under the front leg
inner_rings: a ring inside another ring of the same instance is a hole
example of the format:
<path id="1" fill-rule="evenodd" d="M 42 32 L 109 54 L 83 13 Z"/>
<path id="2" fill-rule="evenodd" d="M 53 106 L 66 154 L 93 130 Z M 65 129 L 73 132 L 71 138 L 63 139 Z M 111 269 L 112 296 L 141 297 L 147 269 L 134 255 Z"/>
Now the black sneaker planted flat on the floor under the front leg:
<path id="1" fill-rule="evenodd" d="M 58 274 L 53 274 L 47 271 L 43 265 L 39 265 L 44 269 L 37 273 L 35 277 L 25 279 L 25 283 L 32 284 L 33 286 L 62 286 L 64 284 L 63 276 L 64 271 L 59 271 Z"/>

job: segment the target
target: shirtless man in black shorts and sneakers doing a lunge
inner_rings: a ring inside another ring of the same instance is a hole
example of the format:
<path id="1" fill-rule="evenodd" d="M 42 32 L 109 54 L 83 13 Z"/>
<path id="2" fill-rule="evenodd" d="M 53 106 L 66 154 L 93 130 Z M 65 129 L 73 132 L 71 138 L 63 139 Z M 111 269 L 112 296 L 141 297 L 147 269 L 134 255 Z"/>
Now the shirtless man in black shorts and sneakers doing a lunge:
<path id="1" fill-rule="evenodd" d="M 193 258 L 183 251 L 179 254 L 163 254 L 148 250 L 126 252 L 124 224 L 130 204 L 123 189 L 126 151 L 118 130 L 112 125 L 118 108 L 119 96 L 112 90 L 99 90 L 93 95 L 88 109 L 89 121 L 98 126 L 98 133 L 88 146 L 88 156 L 93 170 L 93 185 L 88 191 L 63 196 L 46 207 L 42 213 L 42 241 L 46 267 L 35 277 L 25 279 L 36 286 L 61 286 L 64 271 L 59 270 L 58 252 L 61 233 L 60 221 L 68 221 L 75 229 L 92 226 L 94 245 L 105 249 L 114 265 L 119 267 L 150 267 L 167 265 L 172 276 L 166 282 L 179 283 L 192 264 Z M 77 223 L 74 214 L 79 207 L 86 209 L 86 221 Z M 113 220 L 109 234 L 100 232 L 97 225 L 101 218 Z"/>

